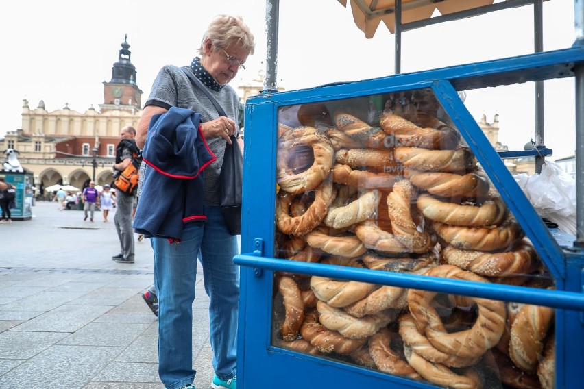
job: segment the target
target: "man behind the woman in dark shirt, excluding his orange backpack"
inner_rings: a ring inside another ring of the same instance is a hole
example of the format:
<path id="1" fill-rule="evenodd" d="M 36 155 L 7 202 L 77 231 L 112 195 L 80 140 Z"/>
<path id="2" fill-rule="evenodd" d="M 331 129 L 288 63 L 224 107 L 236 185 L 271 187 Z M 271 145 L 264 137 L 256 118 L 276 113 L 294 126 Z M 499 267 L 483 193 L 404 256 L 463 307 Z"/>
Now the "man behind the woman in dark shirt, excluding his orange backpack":
<path id="1" fill-rule="evenodd" d="M 121 141 L 116 147 L 116 163 L 114 164 L 114 178 L 123 172 L 132 163 L 132 151 L 137 150 L 136 129 L 129 125 L 120 131 Z M 134 263 L 134 229 L 132 228 L 132 215 L 134 214 L 134 194 L 126 194 L 117 191 L 117 210 L 114 215 L 114 223 L 120 241 L 120 253 L 114 255 L 112 260 L 123 263 Z"/>

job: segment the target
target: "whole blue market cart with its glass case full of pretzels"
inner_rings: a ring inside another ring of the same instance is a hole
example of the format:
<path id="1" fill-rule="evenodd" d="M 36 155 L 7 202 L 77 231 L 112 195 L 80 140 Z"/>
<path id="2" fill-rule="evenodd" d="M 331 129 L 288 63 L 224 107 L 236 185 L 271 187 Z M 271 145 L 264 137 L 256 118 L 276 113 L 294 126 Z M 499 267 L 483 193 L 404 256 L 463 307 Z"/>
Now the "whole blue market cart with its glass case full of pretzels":
<path id="1" fill-rule="evenodd" d="M 583 66 L 576 44 L 250 98 L 240 389 L 581 387 L 584 221 L 576 236 L 542 221 L 458 92 L 574 78 L 579 155 Z M 469 174 L 482 190 L 430 184 Z M 461 221 L 498 201 L 497 221 Z"/>

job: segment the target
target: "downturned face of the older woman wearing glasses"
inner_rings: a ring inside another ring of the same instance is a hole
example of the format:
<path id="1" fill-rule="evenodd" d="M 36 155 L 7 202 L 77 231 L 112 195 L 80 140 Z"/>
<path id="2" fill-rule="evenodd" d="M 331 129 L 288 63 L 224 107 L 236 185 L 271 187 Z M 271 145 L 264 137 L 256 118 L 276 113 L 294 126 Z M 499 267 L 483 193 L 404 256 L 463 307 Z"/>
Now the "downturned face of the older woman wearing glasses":
<path id="1" fill-rule="evenodd" d="M 214 50 L 210 40 L 205 44 L 205 54 L 202 65 L 219 85 L 228 84 L 239 71 L 239 65 L 250 55 L 247 50 L 236 46 Z"/>

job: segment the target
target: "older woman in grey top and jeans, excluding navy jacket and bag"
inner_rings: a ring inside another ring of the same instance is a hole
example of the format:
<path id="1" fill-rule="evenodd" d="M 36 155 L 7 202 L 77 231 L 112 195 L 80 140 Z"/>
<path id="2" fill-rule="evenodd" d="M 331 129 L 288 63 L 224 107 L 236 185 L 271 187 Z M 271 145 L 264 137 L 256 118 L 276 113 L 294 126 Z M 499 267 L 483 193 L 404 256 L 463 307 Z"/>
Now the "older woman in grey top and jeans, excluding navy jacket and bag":
<path id="1" fill-rule="evenodd" d="M 236 334 L 239 303 L 239 267 L 236 236 L 231 236 L 221 214 L 219 172 L 223 150 L 232 134 L 239 138 L 239 97 L 228 86 L 254 53 L 254 36 L 239 17 L 214 18 L 202 38 L 199 55 L 190 71 L 217 99 L 227 117 L 219 117 L 202 90 L 193 86 L 184 68 L 164 66 L 152 86 L 138 124 L 136 143 L 143 148 L 152 116 L 172 107 L 188 108 L 202 116 L 200 129 L 217 160 L 204 171 L 205 223 L 187 223 L 179 243 L 151 238 L 154 248 L 154 283 L 158 293 L 158 373 L 166 388 L 194 388 L 191 361 L 191 305 L 195 299 L 197 254 L 203 266 L 210 299 L 210 343 L 215 377 L 212 388 L 236 388 Z M 241 142 L 241 138 L 239 138 Z M 146 175 L 151 166 L 146 166 Z M 143 188 L 144 191 L 147 187 Z M 138 208 L 144 197 L 141 195 Z M 193 199 L 197 201 L 200 199 Z M 146 206 L 146 205 L 145 205 Z"/>

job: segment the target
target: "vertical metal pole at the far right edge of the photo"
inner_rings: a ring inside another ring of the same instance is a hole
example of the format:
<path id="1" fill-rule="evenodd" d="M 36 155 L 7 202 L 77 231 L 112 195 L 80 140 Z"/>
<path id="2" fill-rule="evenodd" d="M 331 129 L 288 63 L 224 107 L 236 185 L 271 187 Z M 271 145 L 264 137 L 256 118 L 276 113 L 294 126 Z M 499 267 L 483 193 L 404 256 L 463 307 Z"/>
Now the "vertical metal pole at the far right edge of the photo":
<path id="1" fill-rule="evenodd" d="M 574 47 L 584 49 L 584 0 L 574 1 Z M 576 79 L 576 240 L 574 246 L 584 247 L 584 65 L 574 68 Z"/>

